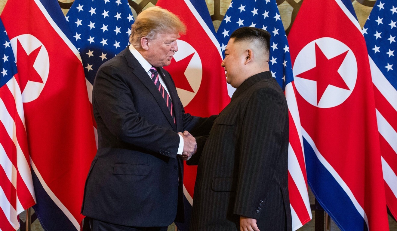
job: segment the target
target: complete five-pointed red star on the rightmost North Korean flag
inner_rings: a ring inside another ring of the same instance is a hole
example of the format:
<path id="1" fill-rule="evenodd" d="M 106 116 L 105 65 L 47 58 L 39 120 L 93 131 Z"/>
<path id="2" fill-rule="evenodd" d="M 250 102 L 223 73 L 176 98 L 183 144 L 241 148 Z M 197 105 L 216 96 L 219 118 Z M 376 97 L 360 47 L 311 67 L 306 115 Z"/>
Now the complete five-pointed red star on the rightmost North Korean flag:
<path id="1" fill-rule="evenodd" d="M 350 90 L 345 80 L 338 73 L 338 69 L 345 59 L 347 52 L 343 52 L 331 59 L 327 59 L 322 50 L 315 43 L 316 51 L 316 67 L 305 71 L 297 76 L 308 80 L 314 80 L 317 82 L 317 104 L 320 101 L 322 95 L 327 89 L 328 85 L 332 85 L 338 88 Z"/>

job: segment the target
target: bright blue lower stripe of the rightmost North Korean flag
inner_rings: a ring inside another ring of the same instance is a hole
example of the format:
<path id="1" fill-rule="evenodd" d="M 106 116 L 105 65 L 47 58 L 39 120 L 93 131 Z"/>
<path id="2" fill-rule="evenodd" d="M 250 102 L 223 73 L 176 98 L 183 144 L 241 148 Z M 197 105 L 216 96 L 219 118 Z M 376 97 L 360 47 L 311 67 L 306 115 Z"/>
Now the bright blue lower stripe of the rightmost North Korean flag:
<path id="1" fill-rule="evenodd" d="M 308 185 L 318 202 L 330 214 L 337 226 L 342 230 L 368 230 L 364 218 L 355 208 L 349 196 L 331 173 L 317 158 L 310 144 L 303 138 L 304 155 Z M 338 211 L 330 213 L 330 211 Z"/>

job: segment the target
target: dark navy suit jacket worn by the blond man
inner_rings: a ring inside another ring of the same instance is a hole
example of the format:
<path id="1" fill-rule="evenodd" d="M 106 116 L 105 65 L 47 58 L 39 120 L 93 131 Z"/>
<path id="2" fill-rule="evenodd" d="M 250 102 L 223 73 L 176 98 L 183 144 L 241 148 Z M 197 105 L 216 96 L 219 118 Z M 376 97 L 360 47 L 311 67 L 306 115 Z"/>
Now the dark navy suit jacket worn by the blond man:
<path id="1" fill-rule="evenodd" d="M 183 161 L 177 157 L 177 132 L 196 125 L 204 128 L 205 122 L 185 114 L 170 74 L 162 68 L 158 72 L 170 92 L 176 124 L 128 48 L 98 69 L 93 108 L 99 147 L 87 176 L 83 215 L 147 227 L 170 225 L 178 210 L 177 221 L 183 222 Z"/>

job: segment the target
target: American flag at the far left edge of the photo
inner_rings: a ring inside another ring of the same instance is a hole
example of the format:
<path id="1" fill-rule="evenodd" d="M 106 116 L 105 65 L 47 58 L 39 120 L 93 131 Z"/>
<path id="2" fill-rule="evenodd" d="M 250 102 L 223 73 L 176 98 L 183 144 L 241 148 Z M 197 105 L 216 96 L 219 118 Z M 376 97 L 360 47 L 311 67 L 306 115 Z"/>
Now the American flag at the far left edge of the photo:
<path id="1" fill-rule="evenodd" d="M 1 21 L 0 43 L 0 230 L 11 231 L 36 202 L 17 66 Z"/>

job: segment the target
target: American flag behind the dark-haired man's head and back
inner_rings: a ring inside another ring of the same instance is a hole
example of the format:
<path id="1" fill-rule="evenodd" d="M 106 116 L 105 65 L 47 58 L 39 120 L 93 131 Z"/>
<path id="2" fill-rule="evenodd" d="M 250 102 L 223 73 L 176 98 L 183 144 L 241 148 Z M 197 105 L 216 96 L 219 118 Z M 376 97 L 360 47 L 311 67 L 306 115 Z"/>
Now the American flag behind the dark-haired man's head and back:
<path id="1" fill-rule="evenodd" d="M 239 27 L 257 27 L 269 31 L 270 71 L 283 88 L 289 107 L 288 181 L 293 230 L 311 220 L 303 155 L 301 123 L 295 97 L 289 46 L 275 0 L 233 0 L 218 29 L 217 36 L 224 54 L 230 34 Z M 233 92 L 229 91 L 229 95 Z"/>

